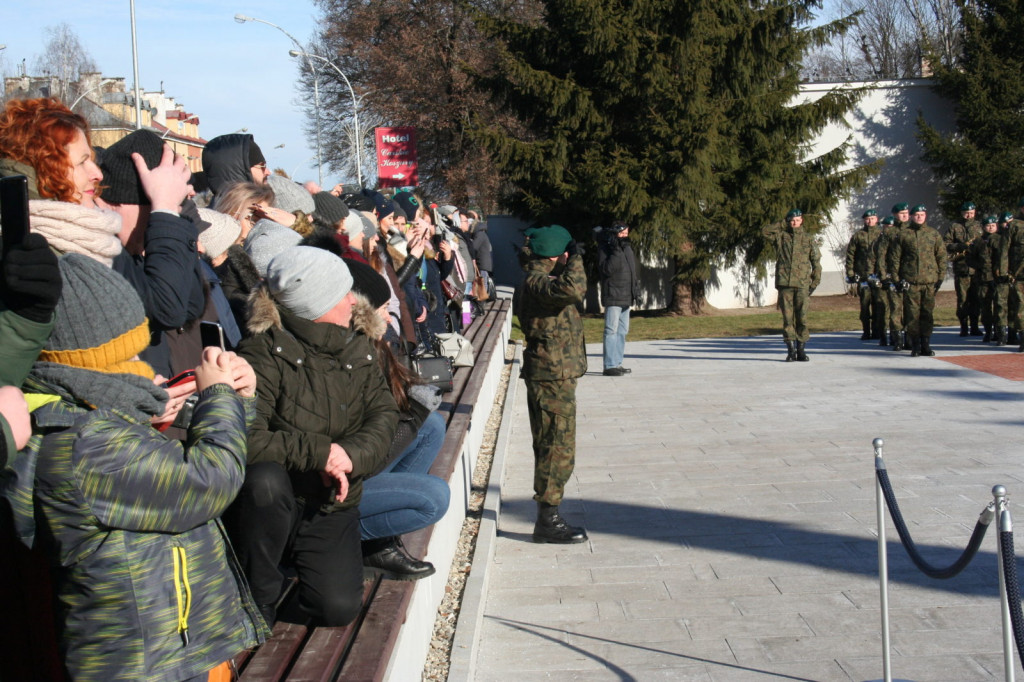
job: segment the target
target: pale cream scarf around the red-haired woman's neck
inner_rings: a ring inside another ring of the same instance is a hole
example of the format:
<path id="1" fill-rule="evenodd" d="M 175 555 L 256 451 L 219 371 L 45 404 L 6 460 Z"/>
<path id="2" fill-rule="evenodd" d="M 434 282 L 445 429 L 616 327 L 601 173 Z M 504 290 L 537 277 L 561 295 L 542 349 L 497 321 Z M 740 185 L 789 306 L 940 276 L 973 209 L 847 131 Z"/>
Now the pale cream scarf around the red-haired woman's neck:
<path id="1" fill-rule="evenodd" d="M 32 231 L 46 238 L 61 253 L 80 253 L 108 267 L 122 251 L 121 216 L 114 211 L 78 204 L 30 201 Z"/>

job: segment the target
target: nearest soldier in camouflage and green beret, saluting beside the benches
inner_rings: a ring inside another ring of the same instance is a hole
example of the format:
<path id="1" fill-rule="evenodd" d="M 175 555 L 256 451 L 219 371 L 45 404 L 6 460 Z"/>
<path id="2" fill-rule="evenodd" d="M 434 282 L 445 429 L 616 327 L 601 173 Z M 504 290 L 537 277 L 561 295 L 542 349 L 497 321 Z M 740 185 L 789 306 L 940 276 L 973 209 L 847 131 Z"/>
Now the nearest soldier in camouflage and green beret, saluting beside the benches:
<path id="1" fill-rule="evenodd" d="M 587 275 L 583 256 L 564 227 L 527 233 L 519 323 L 526 337 L 522 378 L 534 436 L 534 542 L 582 543 L 587 531 L 569 525 L 558 505 L 575 464 L 575 386 L 587 373 L 580 317 Z"/>

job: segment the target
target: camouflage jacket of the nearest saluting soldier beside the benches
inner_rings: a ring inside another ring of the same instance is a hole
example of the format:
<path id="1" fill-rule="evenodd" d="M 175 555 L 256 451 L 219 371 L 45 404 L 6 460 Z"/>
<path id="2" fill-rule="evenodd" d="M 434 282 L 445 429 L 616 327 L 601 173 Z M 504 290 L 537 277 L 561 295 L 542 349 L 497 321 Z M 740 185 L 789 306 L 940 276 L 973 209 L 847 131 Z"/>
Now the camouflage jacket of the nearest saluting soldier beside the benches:
<path id="1" fill-rule="evenodd" d="M 523 265 L 519 326 L 526 337 L 522 377 L 527 381 L 578 379 L 587 373 L 580 316 L 587 295 L 583 258 L 569 256 L 557 274 L 554 268 L 548 258 L 529 258 Z"/>

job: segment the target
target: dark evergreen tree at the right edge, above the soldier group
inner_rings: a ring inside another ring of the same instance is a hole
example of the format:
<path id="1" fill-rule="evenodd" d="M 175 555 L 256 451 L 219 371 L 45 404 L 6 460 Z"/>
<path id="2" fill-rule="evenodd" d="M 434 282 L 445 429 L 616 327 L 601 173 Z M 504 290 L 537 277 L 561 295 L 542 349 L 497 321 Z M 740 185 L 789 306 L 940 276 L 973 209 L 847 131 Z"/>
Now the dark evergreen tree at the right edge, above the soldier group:
<path id="1" fill-rule="evenodd" d="M 947 216 L 965 201 L 982 211 L 1015 208 L 1024 187 L 1024 1 L 963 2 L 961 12 L 957 67 L 935 67 L 935 88 L 953 102 L 956 130 L 944 135 L 918 118 Z"/>

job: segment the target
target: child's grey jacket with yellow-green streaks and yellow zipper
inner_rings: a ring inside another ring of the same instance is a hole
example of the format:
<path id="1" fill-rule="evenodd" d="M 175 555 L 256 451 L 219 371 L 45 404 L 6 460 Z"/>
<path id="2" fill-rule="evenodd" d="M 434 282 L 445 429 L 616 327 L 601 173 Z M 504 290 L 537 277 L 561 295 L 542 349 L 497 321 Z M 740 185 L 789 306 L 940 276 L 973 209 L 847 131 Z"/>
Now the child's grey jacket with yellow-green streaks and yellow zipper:
<path id="1" fill-rule="evenodd" d="M 27 393 L 49 393 L 30 377 Z M 176 682 L 269 632 L 218 517 L 245 477 L 246 417 L 223 384 L 200 394 L 188 440 L 52 396 L 0 476 L 19 539 L 47 553 L 75 680 Z M 38 526 L 38 530 L 37 530 Z"/>

